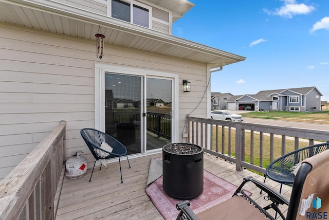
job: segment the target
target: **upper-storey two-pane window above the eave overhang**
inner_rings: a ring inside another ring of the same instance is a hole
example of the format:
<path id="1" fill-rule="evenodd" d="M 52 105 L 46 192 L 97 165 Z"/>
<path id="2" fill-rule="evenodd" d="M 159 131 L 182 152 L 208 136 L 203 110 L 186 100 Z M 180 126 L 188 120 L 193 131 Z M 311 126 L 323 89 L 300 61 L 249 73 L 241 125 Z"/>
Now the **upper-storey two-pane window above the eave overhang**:
<path id="1" fill-rule="evenodd" d="M 149 9 L 147 6 L 132 4 L 121 0 L 111 1 L 111 16 L 125 22 L 149 27 Z"/>

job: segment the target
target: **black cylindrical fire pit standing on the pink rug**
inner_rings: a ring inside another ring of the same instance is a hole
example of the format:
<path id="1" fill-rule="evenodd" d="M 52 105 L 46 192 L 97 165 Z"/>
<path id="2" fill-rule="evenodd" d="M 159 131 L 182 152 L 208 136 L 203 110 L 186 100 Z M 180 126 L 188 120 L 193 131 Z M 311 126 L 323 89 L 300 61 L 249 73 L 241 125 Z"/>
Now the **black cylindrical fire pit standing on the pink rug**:
<path id="1" fill-rule="evenodd" d="M 204 191 L 203 148 L 191 143 L 163 146 L 163 190 L 179 199 L 191 199 Z"/>

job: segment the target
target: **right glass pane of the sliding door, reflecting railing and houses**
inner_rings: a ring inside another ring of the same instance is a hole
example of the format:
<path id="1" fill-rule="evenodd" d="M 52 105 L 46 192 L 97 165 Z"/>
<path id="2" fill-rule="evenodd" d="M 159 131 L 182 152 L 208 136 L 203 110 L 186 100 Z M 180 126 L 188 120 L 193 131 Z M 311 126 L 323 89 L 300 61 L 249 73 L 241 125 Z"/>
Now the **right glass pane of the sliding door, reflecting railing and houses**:
<path id="1" fill-rule="evenodd" d="M 147 150 L 162 148 L 172 139 L 172 80 L 147 78 Z"/>

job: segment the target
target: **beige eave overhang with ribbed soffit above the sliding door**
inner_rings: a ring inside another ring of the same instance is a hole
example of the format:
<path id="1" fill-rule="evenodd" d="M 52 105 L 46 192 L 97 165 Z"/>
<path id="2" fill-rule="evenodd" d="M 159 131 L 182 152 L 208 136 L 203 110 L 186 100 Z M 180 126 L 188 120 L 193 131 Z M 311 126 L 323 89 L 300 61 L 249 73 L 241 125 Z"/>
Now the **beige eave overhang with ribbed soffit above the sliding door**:
<path id="1" fill-rule="evenodd" d="M 211 68 L 245 60 L 230 52 L 52 1 L 0 0 L 0 22 L 90 40 L 96 40 L 101 27 L 107 44 L 208 63 Z"/>

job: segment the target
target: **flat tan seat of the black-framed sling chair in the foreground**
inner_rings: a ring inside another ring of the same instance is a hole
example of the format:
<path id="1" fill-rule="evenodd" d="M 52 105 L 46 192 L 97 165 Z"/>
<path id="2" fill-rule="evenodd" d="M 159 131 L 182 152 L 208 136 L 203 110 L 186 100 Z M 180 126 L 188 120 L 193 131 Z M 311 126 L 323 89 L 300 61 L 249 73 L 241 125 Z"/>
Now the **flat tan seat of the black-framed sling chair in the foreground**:
<path id="1" fill-rule="evenodd" d="M 265 219 L 265 214 L 260 213 L 259 209 L 255 209 L 254 205 L 250 205 L 249 201 L 241 196 L 233 196 L 232 198 L 211 207 L 203 212 L 196 214 L 200 220 L 202 219 Z"/>

